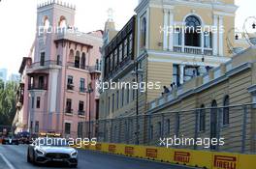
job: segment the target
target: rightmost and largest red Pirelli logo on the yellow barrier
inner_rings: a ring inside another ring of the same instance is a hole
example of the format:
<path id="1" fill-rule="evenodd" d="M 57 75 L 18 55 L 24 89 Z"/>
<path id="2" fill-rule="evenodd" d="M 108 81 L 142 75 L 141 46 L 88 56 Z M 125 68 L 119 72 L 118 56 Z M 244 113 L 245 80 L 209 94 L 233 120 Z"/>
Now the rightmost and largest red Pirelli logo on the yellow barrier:
<path id="1" fill-rule="evenodd" d="M 236 156 L 214 155 L 213 166 L 216 169 L 237 169 L 238 158 Z"/>

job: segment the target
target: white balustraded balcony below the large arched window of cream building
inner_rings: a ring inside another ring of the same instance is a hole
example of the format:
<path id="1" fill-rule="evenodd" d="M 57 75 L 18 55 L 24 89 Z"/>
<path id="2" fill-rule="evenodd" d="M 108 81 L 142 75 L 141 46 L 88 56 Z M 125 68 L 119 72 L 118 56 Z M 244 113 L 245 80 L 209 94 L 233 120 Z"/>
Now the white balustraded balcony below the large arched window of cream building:
<path id="1" fill-rule="evenodd" d="M 174 46 L 174 51 L 177 53 L 189 53 L 189 54 L 196 54 L 196 55 L 209 55 L 213 54 L 212 48 L 202 48 L 196 46 L 184 46 L 176 45 Z"/>

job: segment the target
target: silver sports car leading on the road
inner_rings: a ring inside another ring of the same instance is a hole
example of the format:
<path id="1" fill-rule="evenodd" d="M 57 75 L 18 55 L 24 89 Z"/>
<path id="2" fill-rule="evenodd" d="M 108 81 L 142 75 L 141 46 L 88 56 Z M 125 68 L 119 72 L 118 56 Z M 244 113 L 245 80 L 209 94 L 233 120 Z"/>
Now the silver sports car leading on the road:
<path id="1" fill-rule="evenodd" d="M 33 164 L 61 162 L 77 168 L 78 151 L 69 147 L 67 141 L 62 138 L 38 138 L 28 147 L 27 162 Z"/>

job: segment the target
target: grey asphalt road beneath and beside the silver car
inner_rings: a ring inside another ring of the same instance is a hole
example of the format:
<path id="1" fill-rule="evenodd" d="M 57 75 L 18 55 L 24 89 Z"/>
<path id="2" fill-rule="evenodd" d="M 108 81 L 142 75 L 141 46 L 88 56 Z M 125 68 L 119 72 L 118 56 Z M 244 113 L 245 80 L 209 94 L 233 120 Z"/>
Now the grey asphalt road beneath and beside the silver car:
<path id="1" fill-rule="evenodd" d="M 27 146 L 0 145 L 0 169 L 65 168 L 59 164 L 34 166 L 26 162 Z M 79 151 L 78 168 L 87 169 L 188 169 L 165 163 L 130 158 L 118 155 Z"/>

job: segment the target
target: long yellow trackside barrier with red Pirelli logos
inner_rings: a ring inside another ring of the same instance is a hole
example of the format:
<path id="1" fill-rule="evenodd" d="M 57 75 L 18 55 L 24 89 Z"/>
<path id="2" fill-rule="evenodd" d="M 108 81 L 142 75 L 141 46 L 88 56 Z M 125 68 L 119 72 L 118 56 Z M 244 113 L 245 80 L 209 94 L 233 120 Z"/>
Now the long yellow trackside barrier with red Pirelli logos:
<path id="1" fill-rule="evenodd" d="M 207 169 L 255 169 L 256 166 L 256 155 L 107 143 L 83 146 L 81 149 Z"/>

